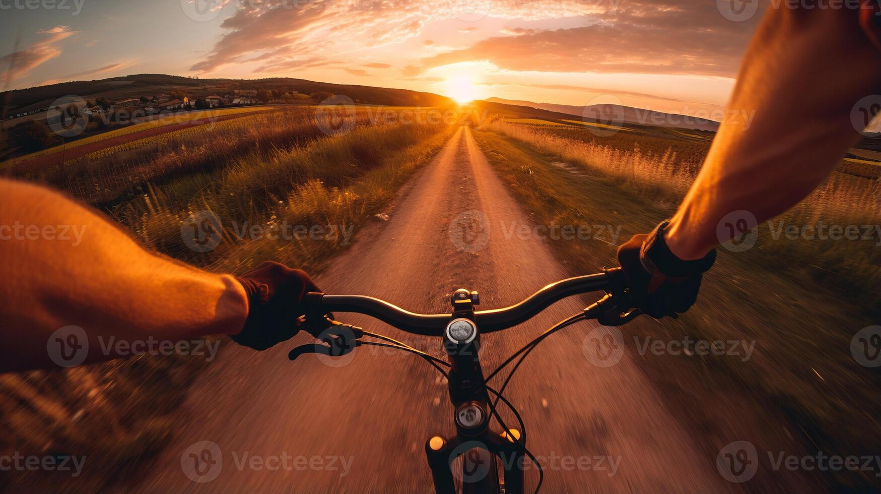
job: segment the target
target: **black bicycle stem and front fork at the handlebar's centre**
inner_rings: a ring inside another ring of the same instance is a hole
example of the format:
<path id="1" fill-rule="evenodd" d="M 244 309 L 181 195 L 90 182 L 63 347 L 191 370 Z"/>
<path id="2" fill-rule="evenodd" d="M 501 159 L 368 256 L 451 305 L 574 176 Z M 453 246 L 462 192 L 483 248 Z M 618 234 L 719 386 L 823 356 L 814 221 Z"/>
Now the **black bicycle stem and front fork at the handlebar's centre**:
<path id="1" fill-rule="evenodd" d="M 453 461 L 463 456 L 459 480 L 463 492 L 500 493 L 497 462 L 504 472 L 504 493 L 523 492 L 523 447 L 517 441 L 520 431 L 499 433 L 490 430 L 489 394 L 480 367 L 480 333 L 474 306 L 478 292 L 464 288 L 452 297 L 453 315 L 444 330 L 444 348 L 450 363 L 449 398 L 454 407 L 454 438 L 434 436 L 426 441 L 428 466 L 438 494 L 455 492 Z M 525 441 L 525 438 L 523 438 Z"/>

